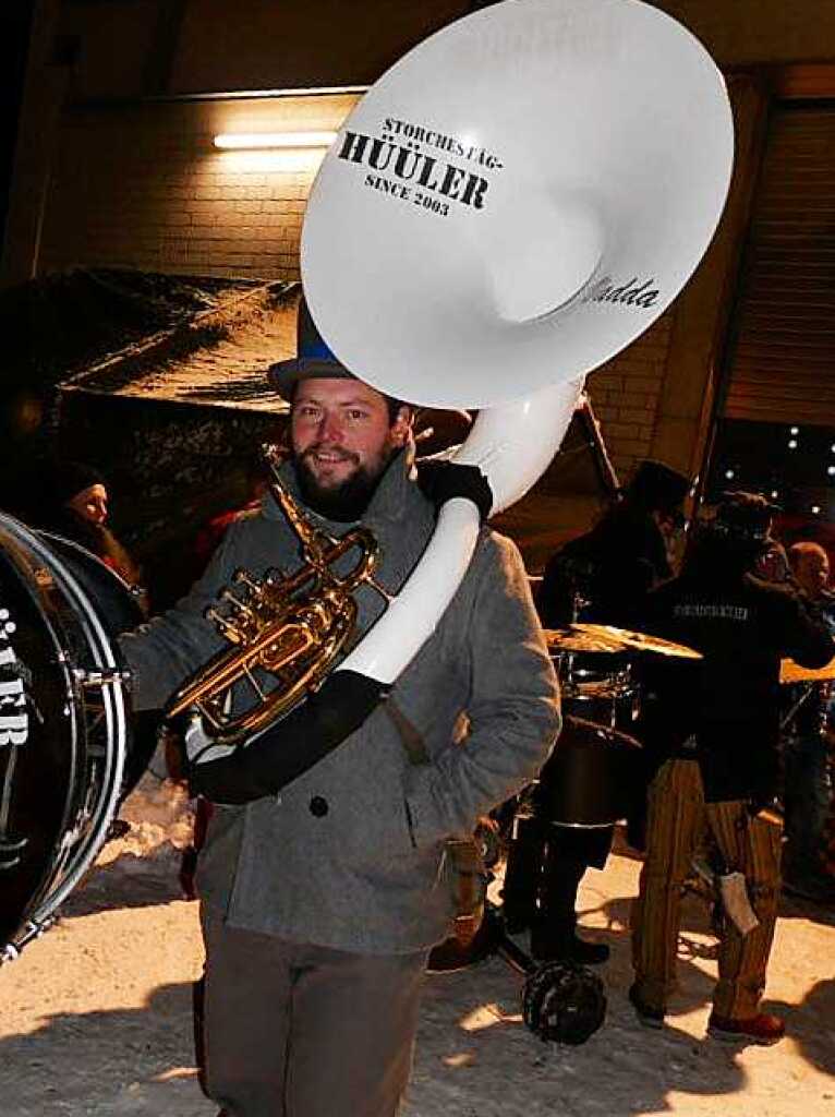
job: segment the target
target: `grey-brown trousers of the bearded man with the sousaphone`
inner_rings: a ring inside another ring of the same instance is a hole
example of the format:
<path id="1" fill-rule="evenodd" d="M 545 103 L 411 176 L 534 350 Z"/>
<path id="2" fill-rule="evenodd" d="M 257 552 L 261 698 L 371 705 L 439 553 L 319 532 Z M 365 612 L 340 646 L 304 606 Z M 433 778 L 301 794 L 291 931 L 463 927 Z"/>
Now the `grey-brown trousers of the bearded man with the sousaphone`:
<path id="1" fill-rule="evenodd" d="M 426 953 L 348 954 L 201 916 L 205 1088 L 228 1117 L 394 1117 Z"/>

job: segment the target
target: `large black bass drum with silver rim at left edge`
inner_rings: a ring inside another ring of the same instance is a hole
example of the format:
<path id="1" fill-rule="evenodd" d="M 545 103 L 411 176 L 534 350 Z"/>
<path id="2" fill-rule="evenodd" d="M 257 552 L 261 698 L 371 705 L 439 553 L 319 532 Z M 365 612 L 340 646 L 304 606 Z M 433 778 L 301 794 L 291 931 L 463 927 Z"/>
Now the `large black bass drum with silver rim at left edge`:
<path id="1" fill-rule="evenodd" d="M 131 590 L 0 513 L 0 960 L 55 919 L 104 844 L 132 753 L 115 637 Z"/>

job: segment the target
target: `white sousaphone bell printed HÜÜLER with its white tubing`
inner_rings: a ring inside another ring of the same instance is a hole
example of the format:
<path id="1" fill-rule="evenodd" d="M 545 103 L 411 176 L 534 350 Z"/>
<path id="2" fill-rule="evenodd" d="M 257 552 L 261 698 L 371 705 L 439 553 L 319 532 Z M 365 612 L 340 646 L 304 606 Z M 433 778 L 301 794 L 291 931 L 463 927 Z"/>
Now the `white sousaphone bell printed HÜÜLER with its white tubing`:
<path id="1" fill-rule="evenodd" d="M 675 20 L 639 0 L 503 0 L 421 42 L 345 122 L 303 228 L 310 312 L 378 390 L 481 409 L 455 460 L 499 512 L 557 451 L 586 374 L 687 283 L 732 159 L 724 80 Z M 396 679 L 478 528 L 470 502 L 442 507 L 337 670 Z"/>

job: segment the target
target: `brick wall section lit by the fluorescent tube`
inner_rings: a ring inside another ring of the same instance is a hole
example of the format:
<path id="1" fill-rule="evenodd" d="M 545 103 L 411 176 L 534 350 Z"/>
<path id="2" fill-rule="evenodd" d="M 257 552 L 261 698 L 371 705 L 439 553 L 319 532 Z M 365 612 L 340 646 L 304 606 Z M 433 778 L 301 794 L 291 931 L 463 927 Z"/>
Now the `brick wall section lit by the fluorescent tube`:
<path id="1" fill-rule="evenodd" d="M 146 103 L 67 114 L 39 270 L 77 265 L 298 279 L 320 153 L 220 152 L 219 132 L 335 130 L 353 95 Z"/>

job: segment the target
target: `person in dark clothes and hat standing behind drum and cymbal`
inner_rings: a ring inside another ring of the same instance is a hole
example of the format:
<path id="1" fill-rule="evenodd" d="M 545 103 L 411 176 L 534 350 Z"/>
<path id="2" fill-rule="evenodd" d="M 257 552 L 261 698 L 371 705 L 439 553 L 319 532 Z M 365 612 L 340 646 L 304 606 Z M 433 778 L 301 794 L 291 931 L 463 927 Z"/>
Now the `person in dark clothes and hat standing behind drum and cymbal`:
<path id="1" fill-rule="evenodd" d="M 548 562 L 536 595 L 543 624 L 564 628 L 582 620 L 631 627 L 646 592 L 672 575 L 668 538 L 682 521 L 689 488 L 689 478 L 670 466 L 641 461 L 622 499 Z M 605 670 L 626 666 L 620 656 L 605 660 Z M 583 656 L 574 657 L 573 667 L 601 669 L 599 662 Z M 569 680 L 564 708 L 573 713 Z M 605 943 L 577 935 L 576 908 L 583 876 L 589 867 L 605 866 L 612 838 L 612 827 L 558 827 L 537 810 L 517 820 L 505 873 L 505 920 L 511 933 L 530 928 L 535 958 L 591 964 L 607 960 Z"/>

